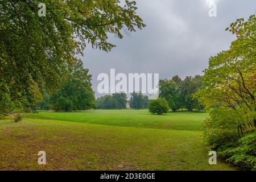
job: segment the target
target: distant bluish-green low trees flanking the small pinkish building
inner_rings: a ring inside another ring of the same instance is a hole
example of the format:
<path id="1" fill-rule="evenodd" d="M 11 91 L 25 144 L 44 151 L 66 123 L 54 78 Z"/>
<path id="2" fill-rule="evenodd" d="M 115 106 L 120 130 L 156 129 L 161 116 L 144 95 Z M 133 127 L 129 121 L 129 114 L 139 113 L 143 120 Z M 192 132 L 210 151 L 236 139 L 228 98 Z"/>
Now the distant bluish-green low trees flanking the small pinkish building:
<path id="1" fill-rule="evenodd" d="M 132 93 L 128 101 L 125 93 L 114 93 L 111 95 L 101 96 L 96 100 L 96 109 L 126 109 L 129 104 L 131 109 L 147 109 L 148 97 L 142 93 Z"/>

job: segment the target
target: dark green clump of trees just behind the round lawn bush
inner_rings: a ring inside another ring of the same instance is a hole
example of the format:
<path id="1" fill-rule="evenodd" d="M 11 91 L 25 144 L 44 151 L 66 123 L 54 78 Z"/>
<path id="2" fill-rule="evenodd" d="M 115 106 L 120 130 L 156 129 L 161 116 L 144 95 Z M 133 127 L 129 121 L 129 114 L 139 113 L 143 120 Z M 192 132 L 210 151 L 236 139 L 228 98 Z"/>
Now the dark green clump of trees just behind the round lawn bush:
<path id="1" fill-rule="evenodd" d="M 181 80 L 179 76 L 174 76 L 170 80 L 159 81 L 159 97 L 164 98 L 172 111 L 187 109 L 188 111 L 201 111 L 204 106 L 199 103 L 193 94 L 201 88 L 201 76 L 187 76 Z"/>

